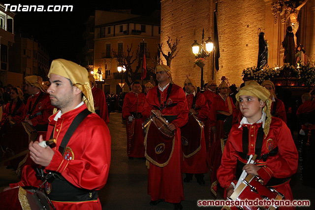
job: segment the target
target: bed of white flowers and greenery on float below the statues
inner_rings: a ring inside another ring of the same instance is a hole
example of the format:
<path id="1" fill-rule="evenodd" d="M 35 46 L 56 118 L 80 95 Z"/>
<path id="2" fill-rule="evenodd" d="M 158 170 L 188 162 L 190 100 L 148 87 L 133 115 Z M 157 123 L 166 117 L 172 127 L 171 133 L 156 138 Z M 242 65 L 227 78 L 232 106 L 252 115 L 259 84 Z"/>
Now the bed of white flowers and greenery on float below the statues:
<path id="1" fill-rule="evenodd" d="M 298 83 L 305 86 L 315 85 L 315 61 L 309 58 L 307 65 L 294 66 L 284 63 L 281 67 L 265 67 L 258 70 L 255 66 L 243 69 L 243 80 L 254 80 L 262 83 L 265 80 L 273 80 L 279 76 L 285 75 L 289 71 L 290 77 L 299 79 Z"/>

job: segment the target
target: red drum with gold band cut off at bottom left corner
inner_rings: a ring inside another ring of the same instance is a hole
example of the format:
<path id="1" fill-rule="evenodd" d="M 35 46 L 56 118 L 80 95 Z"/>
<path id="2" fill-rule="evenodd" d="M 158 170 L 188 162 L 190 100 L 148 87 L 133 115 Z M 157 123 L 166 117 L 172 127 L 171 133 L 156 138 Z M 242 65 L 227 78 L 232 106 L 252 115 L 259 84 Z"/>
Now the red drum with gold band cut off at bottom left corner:
<path id="1" fill-rule="evenodd" d="M 37 187 L 16 187 L 0 193 L 0 206 L 6 210 L 56 210 Z"/>

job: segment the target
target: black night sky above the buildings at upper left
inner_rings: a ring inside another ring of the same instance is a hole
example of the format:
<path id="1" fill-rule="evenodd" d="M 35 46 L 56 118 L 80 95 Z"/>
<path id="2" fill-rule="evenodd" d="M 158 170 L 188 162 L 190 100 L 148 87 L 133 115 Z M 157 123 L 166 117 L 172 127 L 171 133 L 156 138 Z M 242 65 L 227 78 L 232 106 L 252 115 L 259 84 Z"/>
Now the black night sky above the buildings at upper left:
<path id="1" fill-rule="evenodd" d="M 79 3 L 81 2 L 81 3 Z M 50 61 L 58 58 L 78 62 L 78 55 L 85 45 L 82 33 L 83 23 L 95 9 L 131 9 L 133 14 L 150 15 L 160 9 L 160 0 L 1 0 L 11 5 L 73 5 L 72 12 L 16 12 L 15 33 L 34 37 L 49 52 Z"/>

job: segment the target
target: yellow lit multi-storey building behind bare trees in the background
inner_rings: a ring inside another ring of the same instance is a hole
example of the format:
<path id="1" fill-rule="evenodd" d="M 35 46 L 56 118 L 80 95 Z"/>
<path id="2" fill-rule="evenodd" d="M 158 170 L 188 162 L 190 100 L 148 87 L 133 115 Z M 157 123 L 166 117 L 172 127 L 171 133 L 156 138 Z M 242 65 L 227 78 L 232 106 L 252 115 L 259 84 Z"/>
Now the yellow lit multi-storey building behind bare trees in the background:
<path id="1" fill-rule="evenodd" d="M 150 17 L 134 15 L 130 10 L 95 11 L 94 34 L 94 74 L 95 79 L 105 82 L 105 93 L 118 93 L 122 91 L 119 86 L 126 73 L 118 72 L 120 65 L 113 51 L 117 54 L 126 53 L 131 48 L 130 54 L 135 54 L 138 48 L 142 49 L 143 40 L 146 47 L 146 61 L 152 65 L 151 58 L 157 58 L 158 44 L 160 43 L 160 16 L 159 12 Z M 132 69 L 137 66 L 137 61 L 132 64 Z M 98 70 L 102 73 L 97 74 Z M 125 85 L 123 90 L 128 91 Z"/>

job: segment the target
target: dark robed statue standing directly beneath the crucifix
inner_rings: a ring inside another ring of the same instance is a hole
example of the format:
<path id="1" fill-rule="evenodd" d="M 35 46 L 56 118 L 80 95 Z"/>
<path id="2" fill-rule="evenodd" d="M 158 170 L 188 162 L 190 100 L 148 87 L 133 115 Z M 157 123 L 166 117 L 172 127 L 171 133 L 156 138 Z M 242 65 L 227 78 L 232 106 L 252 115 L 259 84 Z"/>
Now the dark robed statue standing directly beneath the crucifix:
<path id="1" fill-rule="evenodd" d="M 282 46 L 284 47 L 284 63 L 295 65 L 294 34 L 292 32 L 292 27 L 290 26 L 286 28 L 286 34 L 284 41 L 282 42 Z"/>

